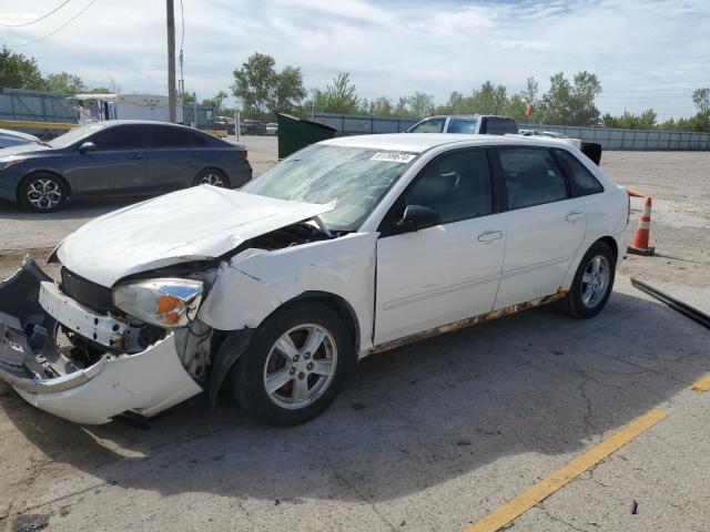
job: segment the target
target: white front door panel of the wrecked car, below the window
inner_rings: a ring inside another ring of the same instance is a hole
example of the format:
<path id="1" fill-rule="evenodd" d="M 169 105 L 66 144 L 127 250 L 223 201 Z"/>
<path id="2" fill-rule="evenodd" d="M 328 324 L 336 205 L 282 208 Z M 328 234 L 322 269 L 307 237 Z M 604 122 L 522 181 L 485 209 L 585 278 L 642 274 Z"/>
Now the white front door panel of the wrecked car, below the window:
<path id="1" fill-rule="evenodd" d="M 478 239 L 497 232 L 499 238 Z M 375 344 L 489 313 L 504 235 L 504 215 L 496 214 L 381 238 Z"/>

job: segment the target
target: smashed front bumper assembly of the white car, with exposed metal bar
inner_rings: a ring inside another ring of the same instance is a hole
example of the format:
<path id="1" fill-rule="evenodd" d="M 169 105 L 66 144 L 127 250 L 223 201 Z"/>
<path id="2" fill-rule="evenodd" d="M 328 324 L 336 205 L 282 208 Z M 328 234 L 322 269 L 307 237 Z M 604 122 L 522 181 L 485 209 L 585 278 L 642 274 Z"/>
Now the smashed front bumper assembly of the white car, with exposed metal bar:
<path id="1" fill-rule="evenodd" d="M 151 417 L 202 390 L 176 347 L 190 345 L 179 338 L 190 330 L 136 326 L 92 308 L 26 258 L 0 283 L 0 379 L 31 405 L 87 424 L 125 411 Z"/>

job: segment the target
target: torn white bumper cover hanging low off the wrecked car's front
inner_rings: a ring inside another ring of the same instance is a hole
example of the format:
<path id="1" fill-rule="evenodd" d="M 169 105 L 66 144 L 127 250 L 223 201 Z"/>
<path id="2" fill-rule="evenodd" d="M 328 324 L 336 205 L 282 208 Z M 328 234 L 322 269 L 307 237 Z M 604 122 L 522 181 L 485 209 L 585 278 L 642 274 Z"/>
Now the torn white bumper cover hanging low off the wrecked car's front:
<path id="1" fill-rule="evenodd" d="M 143 352 L 102 359 L 98 365 L 103 367 L 85 371 L 92 375 L 88 382 L 69 390 L 16 391 L 37 408 L 84 424 L 106 423 L 126 410 L 150 418 L 202 391 L 178 358 L 174 335 Z"/>

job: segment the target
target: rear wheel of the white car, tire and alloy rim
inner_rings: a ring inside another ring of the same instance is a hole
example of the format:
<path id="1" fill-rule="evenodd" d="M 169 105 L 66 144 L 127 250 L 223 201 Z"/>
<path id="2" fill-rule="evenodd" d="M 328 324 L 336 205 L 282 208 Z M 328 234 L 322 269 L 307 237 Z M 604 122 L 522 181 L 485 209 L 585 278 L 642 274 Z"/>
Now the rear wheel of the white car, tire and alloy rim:
<path id="1" fill-rule="evenodd" d="M 577 319 L 594 318 L 607 305 L 615 276 L 611 248 L 604 242 L 595 243 L 579 263 L 572 285 L 561 300 L 562 310 Z"/>

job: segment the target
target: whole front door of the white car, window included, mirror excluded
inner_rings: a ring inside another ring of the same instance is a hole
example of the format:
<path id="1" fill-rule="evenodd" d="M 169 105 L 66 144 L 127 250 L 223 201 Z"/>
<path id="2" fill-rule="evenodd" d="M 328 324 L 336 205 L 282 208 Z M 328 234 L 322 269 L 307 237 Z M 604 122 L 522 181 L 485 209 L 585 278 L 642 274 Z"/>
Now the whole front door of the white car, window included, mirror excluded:
<path id="1" fill-rule="evenodd" d="M 493 191 L 487 151 L 458 150 L 394 204 L 377 242 L 375 345 L 493 310 L 506 238 Z M 407 205 L 435 209 L 442 224 L 398 234 Z"/>

